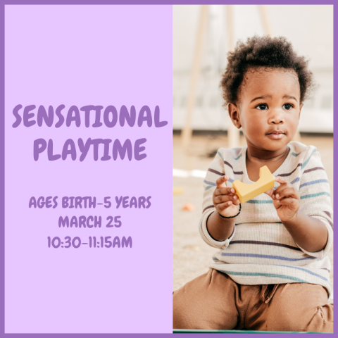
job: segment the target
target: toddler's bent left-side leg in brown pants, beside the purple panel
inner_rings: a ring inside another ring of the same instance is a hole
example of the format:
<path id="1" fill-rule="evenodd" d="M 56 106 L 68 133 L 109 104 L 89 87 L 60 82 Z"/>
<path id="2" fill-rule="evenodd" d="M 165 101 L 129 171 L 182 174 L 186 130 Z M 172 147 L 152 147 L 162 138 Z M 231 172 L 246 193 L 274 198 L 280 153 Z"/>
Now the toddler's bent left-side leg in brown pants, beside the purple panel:
<path id="1" fill-rule="evenodd" d="M 209 270 L 173 294 L 173 328 L 231 330 L 237 324 L 237 284 L 217 270 Z"/>

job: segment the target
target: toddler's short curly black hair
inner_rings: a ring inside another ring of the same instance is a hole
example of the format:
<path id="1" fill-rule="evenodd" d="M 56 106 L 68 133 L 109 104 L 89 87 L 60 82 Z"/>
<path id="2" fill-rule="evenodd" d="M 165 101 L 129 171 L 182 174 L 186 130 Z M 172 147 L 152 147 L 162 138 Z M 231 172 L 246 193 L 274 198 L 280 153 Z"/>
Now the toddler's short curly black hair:
<path id="1" fill-rule="evenodd" d="M 239 101 L 239 88 L 248 70 L 257 68 L 284 68 L 294 70 L 301 88 L 301 103 L 315 89 L 313 74 L 308 70 L 308 60 L 298 56 L 285 37 L 249 37 L 246 43 L 239 40 L 234 51 L 227 56 L 227 68 L 222 75 L 220 88 L 225 106 Z"/>

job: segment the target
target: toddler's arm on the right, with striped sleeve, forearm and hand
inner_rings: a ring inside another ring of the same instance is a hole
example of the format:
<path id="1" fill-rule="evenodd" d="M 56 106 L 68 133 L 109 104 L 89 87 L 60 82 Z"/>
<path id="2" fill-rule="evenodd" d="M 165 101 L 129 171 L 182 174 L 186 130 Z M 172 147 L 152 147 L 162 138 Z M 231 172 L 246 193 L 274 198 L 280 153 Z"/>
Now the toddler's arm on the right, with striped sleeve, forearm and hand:
<path id="1" fill-rule="evenodd" d="M 299 175 L 299 190 L 282 177 L 276 177 L 280 186 L 268 194 L 299 247 L 311 256 L 323 258 L 332 245 L 332 208 L 330 184 L 315 147 L 309 147 L 306 152 Z"/>

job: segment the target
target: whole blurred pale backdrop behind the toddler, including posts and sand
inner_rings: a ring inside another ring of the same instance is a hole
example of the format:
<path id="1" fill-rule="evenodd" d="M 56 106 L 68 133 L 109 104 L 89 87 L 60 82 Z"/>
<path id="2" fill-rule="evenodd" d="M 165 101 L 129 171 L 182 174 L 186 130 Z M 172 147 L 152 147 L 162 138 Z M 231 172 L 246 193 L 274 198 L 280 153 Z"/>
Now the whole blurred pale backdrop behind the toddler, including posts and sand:
<path id="1" fill-rule="evenodd" d="M 255 34 L 287 37 L 310 59 L 319 87 L 304 104 L 296 140 L 320 151 L 333 203 L 333 6 L 173 6 L 174 290 L 212 261 L 215 249 L 198 231 L 202 181 L 216 149 L 245 145 L 223 108 L 220 75 L 227 51 Z M 333 249 L 329 254 L 333 267 Z"/>

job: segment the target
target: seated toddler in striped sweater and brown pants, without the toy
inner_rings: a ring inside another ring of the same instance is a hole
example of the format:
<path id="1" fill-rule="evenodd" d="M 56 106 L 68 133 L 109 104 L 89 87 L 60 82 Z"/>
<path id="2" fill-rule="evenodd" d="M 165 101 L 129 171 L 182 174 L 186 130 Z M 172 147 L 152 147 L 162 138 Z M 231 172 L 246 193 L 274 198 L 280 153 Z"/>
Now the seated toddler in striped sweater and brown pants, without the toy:
<path id="1" fill-rule="evenodd" d="M 333 332 L 330 184 L 318 150 L 292 142 L 308 61 L 284 37 L 252 37 L 229 53 L 220 87 L 246 146 L 219 149 L 208 168 L 199 231 L 219 251 L 174 292 L 173 327 Z M 232 182 L 256 182 L 263 165 L 274 189 L 241 205 Z"/>

